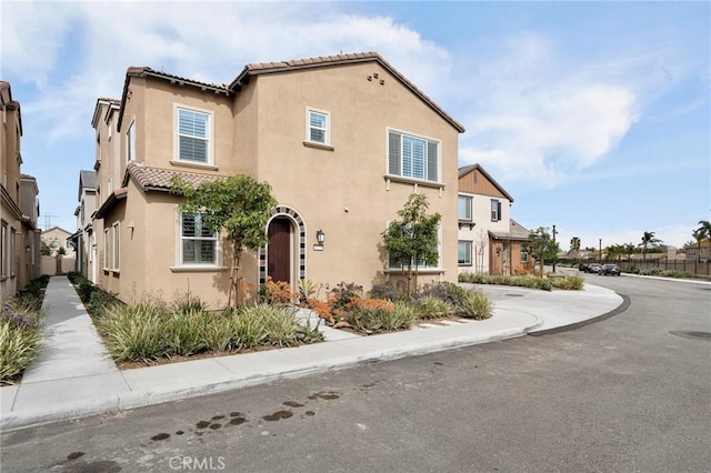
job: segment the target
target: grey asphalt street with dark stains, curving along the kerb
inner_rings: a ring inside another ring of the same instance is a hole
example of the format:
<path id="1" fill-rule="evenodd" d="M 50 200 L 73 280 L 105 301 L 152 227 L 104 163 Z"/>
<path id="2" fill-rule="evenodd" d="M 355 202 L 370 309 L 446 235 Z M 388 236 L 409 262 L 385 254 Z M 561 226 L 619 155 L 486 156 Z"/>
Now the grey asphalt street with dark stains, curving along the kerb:
<path id="1" fill-rule="evenodd" d="M 3 433 L 2 471 L 708 472 L 711 286 L 575 330 Z M 705 335 L 704 335 L 705 334 Z"/>

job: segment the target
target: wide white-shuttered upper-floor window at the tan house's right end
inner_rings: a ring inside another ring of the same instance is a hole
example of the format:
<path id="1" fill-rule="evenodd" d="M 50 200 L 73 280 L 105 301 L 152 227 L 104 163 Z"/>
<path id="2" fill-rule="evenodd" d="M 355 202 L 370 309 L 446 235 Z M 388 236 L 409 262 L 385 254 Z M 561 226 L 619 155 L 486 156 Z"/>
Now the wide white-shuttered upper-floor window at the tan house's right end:
<path id="1" fill-rule="evenodd" d="M 440 142 L 388 131 L 388 174 L 439 182 Z"/>

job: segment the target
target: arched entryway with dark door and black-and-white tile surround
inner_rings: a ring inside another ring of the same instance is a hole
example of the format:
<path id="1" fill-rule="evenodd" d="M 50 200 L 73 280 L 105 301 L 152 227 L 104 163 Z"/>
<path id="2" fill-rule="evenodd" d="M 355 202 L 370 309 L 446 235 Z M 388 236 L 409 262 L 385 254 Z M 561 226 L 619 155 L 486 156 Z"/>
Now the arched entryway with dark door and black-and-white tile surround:
<path id="1" fill-rule="evenodd" d="M 267 224 L 269 241 L 259 251 L 259 282 L 264 284 L 267 276 L 273 281 L 288 281 L 292 285 L 306 278 L 307 273 L 307 233 L 303 219 L 286 205 L 271 211 Z"/>

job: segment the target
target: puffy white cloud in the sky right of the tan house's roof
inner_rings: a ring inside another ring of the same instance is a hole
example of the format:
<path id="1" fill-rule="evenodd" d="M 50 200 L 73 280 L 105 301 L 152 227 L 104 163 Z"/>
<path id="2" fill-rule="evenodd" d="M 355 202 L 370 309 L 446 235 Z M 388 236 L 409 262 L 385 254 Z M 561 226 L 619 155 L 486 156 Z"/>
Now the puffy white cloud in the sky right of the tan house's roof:
<path id="1" fill-rule="evenodd" d="M 638 119 L 629 81 L 568 60 L 537 34 L 494 52 L 470 79 L 461 164 L 479 162 L 507 181 L 553 187 L 603 159 Z"/>

